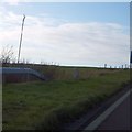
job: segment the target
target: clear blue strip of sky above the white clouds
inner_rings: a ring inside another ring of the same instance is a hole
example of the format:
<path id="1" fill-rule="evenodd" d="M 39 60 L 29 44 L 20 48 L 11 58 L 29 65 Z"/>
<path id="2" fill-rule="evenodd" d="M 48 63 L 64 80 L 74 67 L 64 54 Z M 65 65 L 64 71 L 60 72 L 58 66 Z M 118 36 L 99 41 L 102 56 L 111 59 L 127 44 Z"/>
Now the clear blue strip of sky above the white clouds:
<path id="1" fill-rule="evenodd" d="M 6 4 L 9 11 L 18 14 L 45 13 L 70 22 L 116 22 L 127 26 L 130 22 L 129 6 L 129 2 L 24 2 L 16 7 Z"/>

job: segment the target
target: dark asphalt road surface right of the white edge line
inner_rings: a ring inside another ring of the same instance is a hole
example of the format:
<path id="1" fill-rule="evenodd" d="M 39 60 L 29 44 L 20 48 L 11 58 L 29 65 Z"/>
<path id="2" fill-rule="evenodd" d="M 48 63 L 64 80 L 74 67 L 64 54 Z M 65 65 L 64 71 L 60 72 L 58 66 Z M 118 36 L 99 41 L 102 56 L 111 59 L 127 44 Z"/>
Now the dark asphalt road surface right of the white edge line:
<path id="1" fill-rule="evenodd" d="M 130 95 L 119 107 L 98 127 L 98 130 L 131 130 L 132 103 Z"/>

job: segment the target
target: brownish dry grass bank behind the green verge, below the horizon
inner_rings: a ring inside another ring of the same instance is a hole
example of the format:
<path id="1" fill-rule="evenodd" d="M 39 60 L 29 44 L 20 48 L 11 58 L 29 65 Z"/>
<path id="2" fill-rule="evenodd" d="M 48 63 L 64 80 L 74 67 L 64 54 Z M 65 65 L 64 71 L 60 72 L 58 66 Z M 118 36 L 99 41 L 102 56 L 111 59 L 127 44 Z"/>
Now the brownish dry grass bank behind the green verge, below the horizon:
<path id="1" fill-rule="evenodd" d="M 41 64 L 4 64 L 4 67 L 24 67 L 32 68 L 44 74 L 50 80 L 69 80 L 75 79 L 75 73 L 78 73 L 78 79 L 88 79 L 91 77 L 116 73 L 122 69 L 118 68 L 96 68 L 96 67 L 69 67 Z"/>

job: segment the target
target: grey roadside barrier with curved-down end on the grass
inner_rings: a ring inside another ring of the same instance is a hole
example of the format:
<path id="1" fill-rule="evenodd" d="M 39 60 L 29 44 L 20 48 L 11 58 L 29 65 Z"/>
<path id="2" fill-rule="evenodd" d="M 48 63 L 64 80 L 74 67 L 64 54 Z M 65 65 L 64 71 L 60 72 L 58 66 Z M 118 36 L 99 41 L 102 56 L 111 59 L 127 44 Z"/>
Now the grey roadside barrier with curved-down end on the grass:
<path id="1" fill-rule="evenodd" d="M 2 74 L 3 84 L 46 80 L 44 75 L 31 68 L 2 67 L 0 68 L 0 74 Z"/>

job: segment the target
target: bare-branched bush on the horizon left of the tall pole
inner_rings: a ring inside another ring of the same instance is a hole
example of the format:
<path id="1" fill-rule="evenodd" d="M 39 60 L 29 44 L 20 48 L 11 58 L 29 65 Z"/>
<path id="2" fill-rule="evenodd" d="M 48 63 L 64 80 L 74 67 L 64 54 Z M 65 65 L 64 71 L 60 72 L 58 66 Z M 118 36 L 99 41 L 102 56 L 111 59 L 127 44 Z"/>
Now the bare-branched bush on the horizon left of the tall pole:
<path id="1" fill-rule="evenodd" d="M 6 63 L 11 63 L 11 61 L 13 59 L 13 46 L 12 45 L 6 45 L 2 47 L 1 51 L 1 56 L 0 56 L 0 62 L 3 64 Z"/>

